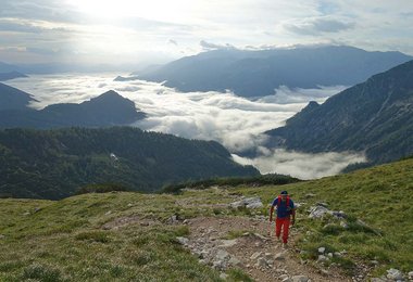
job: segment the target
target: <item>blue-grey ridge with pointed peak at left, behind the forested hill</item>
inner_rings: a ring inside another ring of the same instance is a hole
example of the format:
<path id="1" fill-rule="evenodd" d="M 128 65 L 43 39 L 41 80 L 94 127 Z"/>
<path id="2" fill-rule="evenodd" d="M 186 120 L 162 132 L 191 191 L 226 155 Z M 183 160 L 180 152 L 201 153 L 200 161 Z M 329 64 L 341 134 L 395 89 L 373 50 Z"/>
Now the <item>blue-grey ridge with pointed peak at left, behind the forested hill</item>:
<path id="1" fill-rule="evenodd" d="M 80 104 L 54 104 L 41 111 L 27 107 L 33 98 L 0 84 L 0 128 L 104 127 L 129 125 L 145 118 L 135 103 L 115 91 L 108 91 Z"/>

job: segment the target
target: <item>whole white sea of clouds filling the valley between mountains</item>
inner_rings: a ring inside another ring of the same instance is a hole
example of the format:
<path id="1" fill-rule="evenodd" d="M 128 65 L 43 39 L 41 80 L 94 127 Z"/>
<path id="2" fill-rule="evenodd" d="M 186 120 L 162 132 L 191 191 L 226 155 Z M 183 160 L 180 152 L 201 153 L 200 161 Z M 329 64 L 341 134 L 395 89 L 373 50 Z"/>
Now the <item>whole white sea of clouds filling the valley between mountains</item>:
<path id="1" fill-rule="evenodd" d="M 343 90 L 343 86 L 318 89 L 275 89 L 273 95 L 245 99 L 231 92 L 182 93 L 162 84 L 143 80 L 114 81 L 117 74 L 34 75 L 8 81 L 30 93 L 42 108 L 55 103 L 80 103 L 115 90 L 133 100 L 148 118 L 133 126 L 188 139 L 215 140 L 227 148 L 236 162 L 255 166 L 262 174 L 277 172 L 301 179 L 336 175 L 349 164 L 364 162 L 362 154 L 304 154 L 261 146 L 262 132 L 280 127 L 309 101 L 323 103 Z M 258 149 L 261 156 L 241 157 L 242 152 Z"/>

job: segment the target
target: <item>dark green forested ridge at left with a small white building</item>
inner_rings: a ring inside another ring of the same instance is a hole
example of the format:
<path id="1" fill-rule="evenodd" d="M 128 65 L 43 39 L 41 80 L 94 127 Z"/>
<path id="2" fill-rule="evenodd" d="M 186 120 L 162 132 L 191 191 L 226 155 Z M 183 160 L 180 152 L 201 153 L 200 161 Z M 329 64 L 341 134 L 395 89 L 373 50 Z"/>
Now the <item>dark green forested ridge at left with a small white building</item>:
<path id="1" fill-rule="evenodd" d="M 0 195 L 61 198 L 90 183 L 136 191 L 211 177 L 255 176 L 214 141 L 130 127 L 0 130 Z"/>

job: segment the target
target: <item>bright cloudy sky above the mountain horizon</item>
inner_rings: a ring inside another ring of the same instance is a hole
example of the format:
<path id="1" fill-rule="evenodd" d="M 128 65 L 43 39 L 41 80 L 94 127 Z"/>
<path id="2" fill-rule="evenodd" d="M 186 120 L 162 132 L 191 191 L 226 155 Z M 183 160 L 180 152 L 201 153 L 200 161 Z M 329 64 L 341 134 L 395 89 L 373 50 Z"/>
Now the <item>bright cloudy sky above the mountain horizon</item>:
<path id="1" fill-rule="evenodd" d="M 413 55 L 412 0 L 0 0 L 0 62 L 165 63 L 220 48 Z"/>

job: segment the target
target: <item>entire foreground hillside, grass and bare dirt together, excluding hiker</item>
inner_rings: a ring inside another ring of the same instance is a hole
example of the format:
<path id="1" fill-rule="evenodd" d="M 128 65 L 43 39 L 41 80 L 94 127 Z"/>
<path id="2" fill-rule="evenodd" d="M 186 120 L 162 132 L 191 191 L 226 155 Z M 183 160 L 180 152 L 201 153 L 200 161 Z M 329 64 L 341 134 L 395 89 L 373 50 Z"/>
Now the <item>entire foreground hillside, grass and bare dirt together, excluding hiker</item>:
<path id="1" fill-rule="evenodd" d="M 229 281 L 251 281 L 249 275 L 274 281 L 285 272 L 298 274 L 298 269 L 313 281 L 365 281 L 390 267 L 406 272 L 413 269 L 412 183 L 413 159 L 405 159 L 283 187 L 83 194 L 59 202 L 0 200 L 0 280 L 218 281 L 218 270 L 200 264 L 178 243 L 182 238 L 214 245 L 236 239 L 226 249 L 241 261 L 226 271 Z M 284 260 L 255 267 L 251 253 L 270 257 L 280 252 L 274 241 L 260 241 L 268 235 L 266 203 L 280 190 L 300 204 L 291 245 Z M 264 207 L 228 207 L 241 196 L 259 196 Z M 349 228 L 328 216 L 310 219 L 306 210 L 317 202 L 346 213 Z M 316 262 L 320 247 L 341 255 Z"/>

